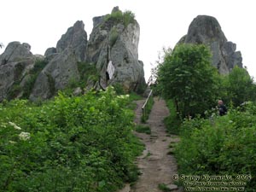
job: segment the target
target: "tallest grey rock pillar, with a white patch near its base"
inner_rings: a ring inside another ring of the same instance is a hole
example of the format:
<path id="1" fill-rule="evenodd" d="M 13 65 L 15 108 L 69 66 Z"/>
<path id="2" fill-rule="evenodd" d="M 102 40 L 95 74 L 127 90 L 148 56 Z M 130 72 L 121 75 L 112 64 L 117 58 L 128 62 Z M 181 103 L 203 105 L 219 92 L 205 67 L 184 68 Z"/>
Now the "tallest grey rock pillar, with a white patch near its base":
<path id="1" fill-rule="evenodd" d="M 113 12 L 119 11 L 116 7 Z M 145 84 L 143 62 L 138 61 L 140 28 L 137 20 L 127 26 L 104 16 L 93 19 L 94 28 L 86 49 L 88 62 L 96 63 L 101 71 L 101 84 L 122 84 L 125 90 L 137 91 Z M 114 67 L 113 79 L 109 79 L 108 63 Z"/>

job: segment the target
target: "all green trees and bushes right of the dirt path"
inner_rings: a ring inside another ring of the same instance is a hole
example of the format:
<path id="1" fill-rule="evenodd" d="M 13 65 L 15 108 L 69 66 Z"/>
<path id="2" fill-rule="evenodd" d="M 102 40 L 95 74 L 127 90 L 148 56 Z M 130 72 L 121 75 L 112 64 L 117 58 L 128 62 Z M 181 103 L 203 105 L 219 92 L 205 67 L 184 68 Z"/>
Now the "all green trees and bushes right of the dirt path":
<path id="1" fill-rule="evenodd" d="M 185 175 L 247 175 L 245 191 L 256 187 L 256 84 L 245 68 L 220 75 L 204 45 L 181 44 L 166 52 L 158 68 L 157 90 L 167 100 L 178 172 Z M 229 107 L 218 115 L 218 99 Z M 182 122 L 183 119 L 183 122 Z M 241 181 L 238 179 L 236 181 Z"/>

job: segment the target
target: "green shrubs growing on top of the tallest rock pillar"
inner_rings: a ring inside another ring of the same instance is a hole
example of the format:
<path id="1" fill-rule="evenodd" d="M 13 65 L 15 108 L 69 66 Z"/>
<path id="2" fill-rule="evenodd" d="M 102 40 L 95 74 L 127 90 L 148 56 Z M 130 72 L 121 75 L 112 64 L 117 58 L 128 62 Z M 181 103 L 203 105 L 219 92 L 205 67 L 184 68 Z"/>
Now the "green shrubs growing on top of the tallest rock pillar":
<path id="1" fill-rule="evenodd" d="M 130 23 L 135 22 L 135 15 L 127 10 L 124 13 L 120 10 L 113 11 L 110 15 L 106 15 L 104 20 L 106 22 L 123 23 L 127 27 Z"/>

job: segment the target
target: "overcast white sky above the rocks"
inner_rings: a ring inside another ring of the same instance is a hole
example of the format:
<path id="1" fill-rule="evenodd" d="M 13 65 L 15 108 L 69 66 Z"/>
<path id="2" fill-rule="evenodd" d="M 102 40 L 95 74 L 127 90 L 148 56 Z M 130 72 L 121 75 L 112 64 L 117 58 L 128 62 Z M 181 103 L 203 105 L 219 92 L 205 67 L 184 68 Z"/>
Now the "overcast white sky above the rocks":
<path id="1" fill-rule="evenodd" d="M 256 77 L 256 6 L 253 0 L 2 0 L 0 43 L 28 43 L 33 54 L 44 55 L 76 20 L 84 20 L 88 38 L 94 16 L 114 6 L 131 10 L 140 24 L 139 59 L 146 79 L 162 47 L 174 47 L 197 15 L 214 16 L 226 38 L 241 50 L 243 64 Z M 0 49 L 0 54 L 4 49 Z"/>

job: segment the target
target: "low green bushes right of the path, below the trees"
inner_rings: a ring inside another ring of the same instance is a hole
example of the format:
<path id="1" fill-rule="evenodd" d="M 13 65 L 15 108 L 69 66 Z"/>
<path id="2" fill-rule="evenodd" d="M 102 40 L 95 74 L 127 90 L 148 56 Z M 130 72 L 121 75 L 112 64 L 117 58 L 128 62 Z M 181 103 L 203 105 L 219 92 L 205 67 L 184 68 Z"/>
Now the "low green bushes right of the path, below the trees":
<path id="1" fill-rule="evenodd" d="M 256 189 L 256 105 L 225 116 L 185 120 L 176 148 L 179 172 L 187 175 L 251 175 L 246 191 Z"/>

